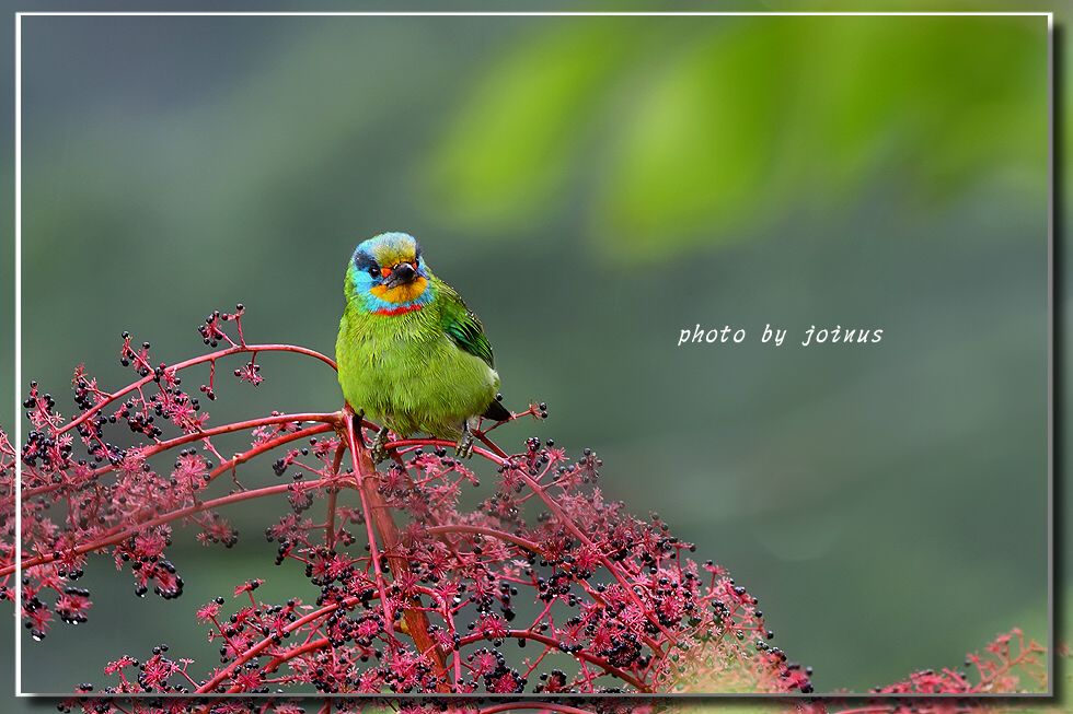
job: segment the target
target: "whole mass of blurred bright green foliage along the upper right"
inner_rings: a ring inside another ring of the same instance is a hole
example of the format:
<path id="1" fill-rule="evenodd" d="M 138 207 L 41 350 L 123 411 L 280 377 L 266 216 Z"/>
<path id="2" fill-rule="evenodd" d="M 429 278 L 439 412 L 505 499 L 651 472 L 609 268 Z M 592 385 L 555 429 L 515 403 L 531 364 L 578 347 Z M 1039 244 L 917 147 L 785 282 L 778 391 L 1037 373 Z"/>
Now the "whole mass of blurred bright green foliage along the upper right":
<path id="1" fill-rule="evenodd" d="M 443 210 L 494 234 L 576 203 L 590 238 L 648 259 L 878 179 L 918 208 L 987 182 L 1046 191 L 1039 17 L 648 20 L 644 43 L 556 25 L 492 69 L 431 169 Z"/>

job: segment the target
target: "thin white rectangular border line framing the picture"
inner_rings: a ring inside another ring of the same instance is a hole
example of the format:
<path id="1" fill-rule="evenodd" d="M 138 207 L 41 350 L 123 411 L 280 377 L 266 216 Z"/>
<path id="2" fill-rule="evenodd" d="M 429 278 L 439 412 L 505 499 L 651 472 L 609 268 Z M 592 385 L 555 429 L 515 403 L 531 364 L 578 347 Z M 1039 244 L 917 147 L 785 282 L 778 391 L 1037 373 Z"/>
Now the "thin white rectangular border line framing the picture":
<path id="1" fill-rule="evenodd" d="M 1047 209 L 1047 485 L 1048 485 L 1048 553 L 1047 553 L 1047 611 L 1048 611 L 1048 643 L 1047 643 L 1047 691 L 1042 693 L 1015 693 L 1015 694 L 972 694 L 970 699 L 1039 699 L 1051 698 L 1054 695 L 1054 389 L 1053 389 L 1053 250 L 1054 250 L 1054 13 L 1053 12 L 16 12 L 15 14 L 15 599 L 13 602 L 15 621 L 15 697 L 20 699 L 33 698 L 56 698 L 70 697 L 68 694 L 42 694 L 22 691 L 22 19 L 25 17 L 673 17 L 673 16 L 700 16 L 700 17 L 1047 17 L 1047 87 L 1048 87 L 1048 209 Z M 137 694 L 137 698 L 219 698 L 219 694 Z M 223 695 L 228 697 L 228 695 Z M 231 694 L 232 698 L 258 697 L 257 694 Z M 262 694 L 259 697 L 274 697 L 284 699 L 309 698 L 315 694 Z M 321 695 L 323 697 L 323 695 Z M 333 697 L 333 695 L 328 695 Z M 334 697 L 341 697 L 338 694 Z M 376 694 L 382 697 L 382 694 Z M 431 697 L 442 697 L 431 695 Z M 464 694 L 448 695 L 448 698 L 468 699 Z M 485 699 L 495 699 L 495 695 L 481 695 Z M 539 694 L 522 694 L 520 698 L 540 698 Z M 634 694 L 605 694 L 589 695 L 577 694 L 572 697 L 635 697 Z M 859 699 L 875 698 L 875 694 L 854 694 L 854 693 L 811 693 L 811 694 L 766 694 L 760 692 L 747 692 L 739 694 L 711 693 L 711 694 L 660 694 L 659 699 L 704 699 L 704 698 L 758 698 L 758 699 Z M 893 694 L 885 695 L 884 699 L 965 699 L 964 694 Z"/>

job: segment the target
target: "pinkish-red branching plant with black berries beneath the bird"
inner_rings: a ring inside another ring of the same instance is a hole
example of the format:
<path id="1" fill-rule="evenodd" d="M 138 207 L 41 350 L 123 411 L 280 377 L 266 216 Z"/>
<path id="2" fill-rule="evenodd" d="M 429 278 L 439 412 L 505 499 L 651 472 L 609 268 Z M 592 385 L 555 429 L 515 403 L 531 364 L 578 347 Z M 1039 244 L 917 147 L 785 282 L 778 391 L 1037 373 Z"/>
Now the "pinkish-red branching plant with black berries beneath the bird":
<path id="1" fill-rule="evenodd" d="M 607 501 L 598 485 L 603 464 L 588 449 L 572 457 L 531 437 L 508 454 L 491 438 L 500 425 L 492 424 L 477 430 L 474 449 L 489 479 L 436 438 L 394 437 L 390 464 L 378 468 L 366 447 L 378 426 L 349 407 L 211 424 L 203 401 L 216 400 L 224 363 L 238 361 L 233 376 L 254 386 L 264 381 L 256 359 L 266 352 L 335 366 L 305 348 L 247 342 L 243 312 L 239 305 L 209 315 L 198 331 L 211 351 L 174 364 L 154 363 L 151 346 L 125 332 L 119 361 L 136 373 L 132 382 L 107 390 L 77 368 L 71 417 L 32 383 L 21 453 L 0 432 L 0 525 L 8 534 L 0 542 L 0 597 L 14 599 L 12 577 L 21 573 L 22 620 L 34 640 L 44 640 L 56 620 L 86 620 L 92 594 L 78 581 L 101 555 L 132 577 L 137 595 L 180 597 L 184 576 L 169 558 L 176 527 L 195 528 L 206 546 L 230 548 L 240 534 L 226 512 L 251 501 L 278 506 L 264 530 L 277 547 L 275 563 L 300 567 L 311 585 L 309 594 L 275 602 L 258 598 L 263 578 L 233 583 L 233 597 L 196 608 L 219 644 L 218 665 L 195 668 L 161 644 L 117 656 L 105 668 L 106 686 L 82 684 L 77 694 L 811 691 L 811 670 L 770 644 L 774 635 L 757 597 L 723 567 L 694 561 L 695 547 L 657 515 L 638 518 Z M 208 376 L 192 390 L 184 379 L 196 367 Z M 512 420 L 546 415 L 539 403 Z M 120 446 L 113 435 L 123 426 L 134 444 Z M 230 458 L 214 444 L 242 432 L 250 445 Z M 259 456 L 274 459 L 281 482 L 242 487 L 239 467 Z M 230 490 L 218 493 L 221 484 Z M 462 505 L 468 492 L 476 507 Z M 508 655 L 508 642 L 526 656 Z M 1038 666 L 1039 651 L 1008 635 L 972 659 L 973 678 L 920 672 L 877 692 L 1011 691 L 1017 671 Z M 227 712 L 244 700 L 122 701 L 76 698 L 64 706 Z M 621 701 L 593 706 L 618 711 Z M 326 711 L 383 705 L 331 702 Z M 287 699 L 245 705 L 299 711 Z M 501 703 L 448 700 L 406 711 L 427 706 L 506 711 Z M 587 711 L 551 701 L 510 707 Z"/>

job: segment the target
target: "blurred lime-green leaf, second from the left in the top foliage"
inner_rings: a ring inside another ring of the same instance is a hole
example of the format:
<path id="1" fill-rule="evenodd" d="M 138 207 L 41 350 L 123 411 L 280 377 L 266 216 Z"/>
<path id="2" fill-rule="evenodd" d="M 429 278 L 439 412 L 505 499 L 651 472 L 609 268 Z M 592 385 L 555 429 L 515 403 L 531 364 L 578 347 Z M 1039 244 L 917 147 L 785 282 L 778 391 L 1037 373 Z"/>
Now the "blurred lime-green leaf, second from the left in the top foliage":
<path id="1" fill-rule="evenodd" d="M 595 229 L 630 255 L 657 254 L 668 237 L 709 241 L 701 232 L 712 223 L 732 239 L 772 199 L 764 187 L 786 124 L 793 26 L 723 30 L 681 52 L 614 138 Z"/>

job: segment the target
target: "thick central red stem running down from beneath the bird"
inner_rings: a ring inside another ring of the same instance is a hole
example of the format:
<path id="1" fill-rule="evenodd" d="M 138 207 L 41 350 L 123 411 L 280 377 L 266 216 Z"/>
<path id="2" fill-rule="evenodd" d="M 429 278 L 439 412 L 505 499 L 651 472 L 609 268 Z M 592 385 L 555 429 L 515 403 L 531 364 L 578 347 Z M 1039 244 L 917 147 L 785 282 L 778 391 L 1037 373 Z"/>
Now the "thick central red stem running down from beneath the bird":
<path id="1" fill-rule="evenodd" d="M 377 575 L 377 586 L 380 588 L 380 599 L 384 608 L 384 628 L 392 632 L 392 613 L 389 610 L 388 594 L 384 589 L 383 571 L 380 567 L 379 547 L 377 546 L 376 531 L 384 541 L 384 552 L 390 553 L 399 545 L 399 528 L 391 515 L 391 511 L 384 503 L 383 498 L 377 490 L 377 467 L 369 456 L 369 450 L 364 445 L 359 445 L 357 434 L 354 430 L 354 419 L 347 419 L 347 443 L 350 448 L 350 457 L 354 460 L 354 470 L 358 477 L 358 494 L 361 498 L 361 508 L 365 513 L 366 530 L 369 537 L 369 550 L 372 554 L 373 571 Z M 388 563 L 391 565 L 392 576 L 397 580 L 400 575 L 409 573 L 409 563 L 400 555 L 388 555 Z M 415 602 L 416 605 L 416 602 Z M 414 639 L 419 652 L 427 652 L 432 658 L 438 678 L 446 682 L 446 668 L 443 656 L 429 634 L 428 616 L 419 608 L 405 608 L 403 620 L 409 636 Z M 450 689 L 443 684 L 438 684 L 437 689 L 449 692 Z"/>

